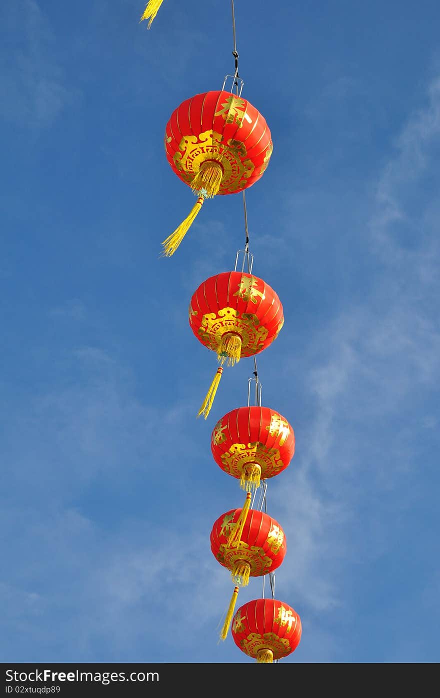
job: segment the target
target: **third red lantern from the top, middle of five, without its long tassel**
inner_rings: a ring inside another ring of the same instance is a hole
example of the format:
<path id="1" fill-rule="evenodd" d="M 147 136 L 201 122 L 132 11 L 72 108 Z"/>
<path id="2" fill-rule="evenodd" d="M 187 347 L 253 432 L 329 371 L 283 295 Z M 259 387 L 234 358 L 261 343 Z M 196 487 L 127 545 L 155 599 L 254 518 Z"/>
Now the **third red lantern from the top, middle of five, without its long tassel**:
<path id="1" fill-rule="evenodd" d="M 259 487 L 285 470 L 295 452 L 294 430 L 268 407 L 239 407 L 218 420 L 211 435 L 215 463 L 240 480 L 242 489 Z"/>

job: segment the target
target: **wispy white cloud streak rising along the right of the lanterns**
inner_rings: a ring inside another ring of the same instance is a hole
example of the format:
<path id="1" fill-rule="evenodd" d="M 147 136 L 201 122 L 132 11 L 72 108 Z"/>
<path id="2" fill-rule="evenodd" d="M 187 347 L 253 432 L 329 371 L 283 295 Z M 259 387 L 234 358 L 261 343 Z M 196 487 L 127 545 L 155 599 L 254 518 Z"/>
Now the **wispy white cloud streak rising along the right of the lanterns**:
<path id="1" fill-rule="evenodd" d="M 395 545 L 383 508 L 390 493 L 397 517 L 417 502 L 416 488 L 403 489 L 402 480 L 417 477 L 420 468 L 418 429 L 437 424 L 430 395 L 438 394 L 440 378 L 439 173 L 431 154 L 439 136 L 440 82 L 434 80 L 427 105 L 409 114 L 395 154 L 377 175 L 363 234 L 372 242 L 370 267 L 384 273 L 374 269 L 366 297 L 348 297 L 312 330 L 309 356 L 289 362 L 313 416 L 300 432 L 289 475 L 271 482 L 268 492 L 289 531 L 278 584 L 308 614 L 340 606 L 348 612 L 344 599 L 358 558 L 379 558 Z M 421 207 L 414 204 L 418 193 Z M 400 228 L 407 221 L 411 244 Z M 294 332 L 289 336 L 294 343 Z M 364 498 L 372 503 L 370 521 Z"/>

